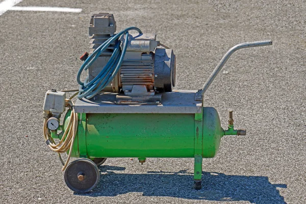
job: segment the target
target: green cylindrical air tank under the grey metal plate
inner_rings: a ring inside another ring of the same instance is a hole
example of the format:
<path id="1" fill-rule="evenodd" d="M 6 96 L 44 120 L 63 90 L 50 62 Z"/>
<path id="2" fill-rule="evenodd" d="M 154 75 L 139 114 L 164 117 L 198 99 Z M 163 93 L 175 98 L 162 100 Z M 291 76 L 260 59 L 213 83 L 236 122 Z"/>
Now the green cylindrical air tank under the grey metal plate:
<path id="1" fill-rule="evenodd" d="M 200 148 L 203 158 L 213 158 L 224 135 L 212 107 L 203 108 L 202 120 L 178 113 L 79 113 L 79 118 L 72 157 L 193 158 Z"/>

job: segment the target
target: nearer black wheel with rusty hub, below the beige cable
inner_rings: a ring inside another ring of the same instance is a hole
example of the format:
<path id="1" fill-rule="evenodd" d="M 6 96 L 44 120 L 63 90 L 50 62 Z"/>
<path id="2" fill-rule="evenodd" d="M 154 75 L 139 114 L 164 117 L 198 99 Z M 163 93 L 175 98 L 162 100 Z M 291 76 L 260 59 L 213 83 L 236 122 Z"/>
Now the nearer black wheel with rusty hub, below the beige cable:
<path id="1" fill-rule="evenodd" d="M 87 193 L 99 182 L 99 169 L 90 159 L 80 158 L 68 164 L 64 179 L 68 188 L 76 193 Z"/>

